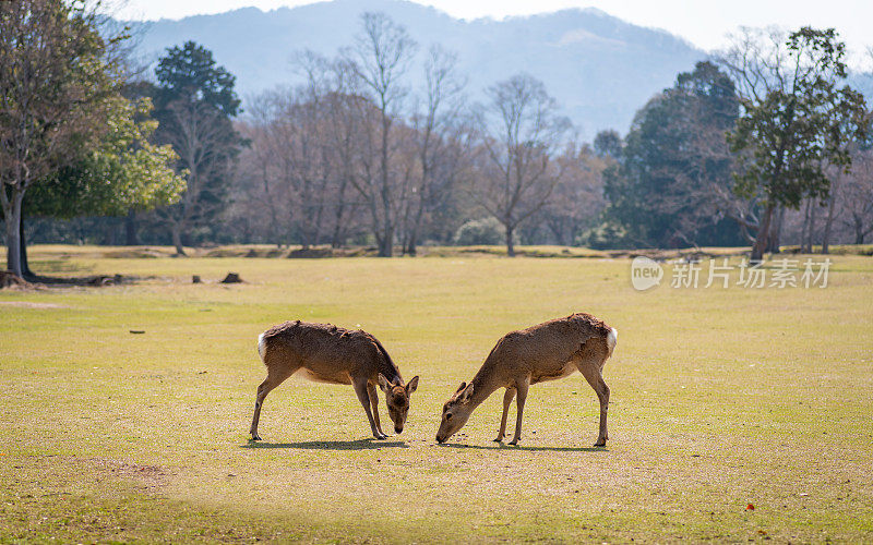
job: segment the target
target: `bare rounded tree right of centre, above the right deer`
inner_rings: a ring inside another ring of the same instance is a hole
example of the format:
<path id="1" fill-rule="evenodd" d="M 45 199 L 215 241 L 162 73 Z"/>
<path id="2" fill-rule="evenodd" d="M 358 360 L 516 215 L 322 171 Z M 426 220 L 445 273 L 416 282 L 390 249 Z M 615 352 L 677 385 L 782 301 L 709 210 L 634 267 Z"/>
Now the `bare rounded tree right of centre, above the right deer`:
<path id="1" fill-rule="evenodd" d="M 570 130 L 545 85 L 518 74 L 488 89 L 481 119 L 486 149 L 480 179 L 474 185 L 479 204 L 505 229 L 506 253 L 515 256 L 518 225 L 549 201 L 561 179 L 552 155 Z"/>

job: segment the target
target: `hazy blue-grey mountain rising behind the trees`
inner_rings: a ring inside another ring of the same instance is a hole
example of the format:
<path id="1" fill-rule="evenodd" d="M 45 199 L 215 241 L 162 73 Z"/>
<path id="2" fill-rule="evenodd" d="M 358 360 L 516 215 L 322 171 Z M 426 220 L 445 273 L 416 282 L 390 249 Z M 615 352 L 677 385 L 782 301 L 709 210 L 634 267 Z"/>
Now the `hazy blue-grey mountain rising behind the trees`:
<path id="1" fill-rule="evenodd" d="M 587 138 L 601 129 L 626 131 L 651 95 L 706 56 L 665 31 L 632 25 L 596 9 L 463 21 L 404 0 L 333 0 L 133 25 L 142 25 L 140 51 L 147 60 L 188 39 L 212 49 L 217 62 L 237 76 L 246 98 L 299 82 L 290 64 L 295 51 L 330 56 L 350 45 L 366 11 L 385 12 L 405 25 L 419 51 L 434 43 L 457 51 L 475 99 L 521 71 L 542 80 Z M 417 65 L 410 84 L 422 80 Z"/>

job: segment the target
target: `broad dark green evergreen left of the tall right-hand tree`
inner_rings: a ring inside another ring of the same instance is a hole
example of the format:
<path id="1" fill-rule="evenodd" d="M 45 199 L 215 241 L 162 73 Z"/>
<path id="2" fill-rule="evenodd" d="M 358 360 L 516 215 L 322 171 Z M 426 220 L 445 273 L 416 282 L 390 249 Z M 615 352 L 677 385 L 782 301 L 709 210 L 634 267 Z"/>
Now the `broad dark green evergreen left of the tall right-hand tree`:
<path id="1" fill-rule="evenodd" d="M 738 116 L 733 83 L 710 62 L 677 76 L 637 112 L 624 144 L 601 133 L 595 148 L 617 158 L 603 172 L 607 223 L 635 246 L 736 244 L 718 196 L 731 183 L 725 140 Z"/>

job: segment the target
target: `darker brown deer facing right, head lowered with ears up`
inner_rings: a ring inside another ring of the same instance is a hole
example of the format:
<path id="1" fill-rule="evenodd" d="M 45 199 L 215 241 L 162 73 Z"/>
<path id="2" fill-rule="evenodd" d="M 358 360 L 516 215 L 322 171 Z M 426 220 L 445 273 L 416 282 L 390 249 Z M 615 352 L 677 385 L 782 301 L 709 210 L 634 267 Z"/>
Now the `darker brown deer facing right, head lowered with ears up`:
<path id="1" fill-rule="evenodd" d="M 403 432 L 409 412 L 409 396 L 418 388 L 416 376 L 404 384 L 400 372 L 372 335 L 330 324 L 286 322 L 258 337 L 258 353 L 266 365 L 266 379 L 258 387 L 252 416 L 252 440 L 260 440 L 258 421 L 264 398 L 286 378 L 298 374 L 309 380 L 350 384 L 370 421 L 373 437 L 384 439 L 379 422 L 379 395 L 385 392 L 394 431 Z M 372 409 L 371 409 L 372 408 Z"/>

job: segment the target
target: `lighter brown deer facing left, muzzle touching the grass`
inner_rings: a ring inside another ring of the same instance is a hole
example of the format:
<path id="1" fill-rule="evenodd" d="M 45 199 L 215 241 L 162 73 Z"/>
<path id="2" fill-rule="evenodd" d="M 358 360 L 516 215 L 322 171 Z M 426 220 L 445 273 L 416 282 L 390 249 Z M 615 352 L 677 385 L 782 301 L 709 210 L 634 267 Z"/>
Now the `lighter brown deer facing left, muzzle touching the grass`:
<path id="1" fill-rule="evenodd" d="M 510 445 L 522 438 L 522 413 L 531 384 L 553 380 L 578 370 L 600 400 L 600 433 L 596 447 L 606 446 L 609 387 L 603 382 L 603 364 L 615 349 L 619 332 L 590 314 L 573 314 L 503 336 L 486 358 L 470 384 L 461 383 L 443 405 L 436 441 L 445 443 L 464 427 L 473 411 L 498 388 L 503 395 L 503 416 L 495 441 L 503 441 L 506 413 L 518 396 L 515 435 Z"/>

